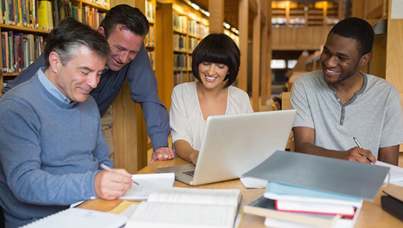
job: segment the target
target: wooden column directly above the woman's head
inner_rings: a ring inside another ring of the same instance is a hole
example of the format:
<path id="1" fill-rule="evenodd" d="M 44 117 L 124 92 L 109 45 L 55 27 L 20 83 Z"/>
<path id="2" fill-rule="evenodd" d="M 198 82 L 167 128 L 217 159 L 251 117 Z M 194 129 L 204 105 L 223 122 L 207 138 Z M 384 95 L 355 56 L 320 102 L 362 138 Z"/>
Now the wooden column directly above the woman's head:
<path id="1" fill-rule="evenodd" d="M 224 0 L 209 0 L 210 33 L 224 32 Z"/>

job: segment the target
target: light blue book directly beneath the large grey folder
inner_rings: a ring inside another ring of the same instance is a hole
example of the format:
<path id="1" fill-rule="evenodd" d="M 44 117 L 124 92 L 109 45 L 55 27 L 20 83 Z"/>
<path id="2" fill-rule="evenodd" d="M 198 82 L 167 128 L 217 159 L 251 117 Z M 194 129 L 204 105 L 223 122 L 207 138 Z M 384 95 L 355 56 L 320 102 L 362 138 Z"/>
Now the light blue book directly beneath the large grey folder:
<path id="1" fill-rule="evenodd" d="M 362 200 L 359 197 L 331 193 L 304 187 L 284 185 L 269 181 L 263 196 L 272 200 L 286 200 L 305 203 L 349 205 L 361 207 Z"/>

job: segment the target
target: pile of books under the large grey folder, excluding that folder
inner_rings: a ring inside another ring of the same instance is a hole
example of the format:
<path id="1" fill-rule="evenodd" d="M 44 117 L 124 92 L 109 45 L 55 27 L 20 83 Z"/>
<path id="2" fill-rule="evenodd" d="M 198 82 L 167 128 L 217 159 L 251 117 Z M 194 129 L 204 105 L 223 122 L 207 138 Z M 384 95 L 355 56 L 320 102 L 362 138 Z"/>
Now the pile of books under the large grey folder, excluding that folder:
<path id="1" fill-rule="evenodd" d="M 245 205 L 245 213 L 266 217 L 269 227 L 354 227 L 362 199 L 268 182 L 262 197 Z"/>

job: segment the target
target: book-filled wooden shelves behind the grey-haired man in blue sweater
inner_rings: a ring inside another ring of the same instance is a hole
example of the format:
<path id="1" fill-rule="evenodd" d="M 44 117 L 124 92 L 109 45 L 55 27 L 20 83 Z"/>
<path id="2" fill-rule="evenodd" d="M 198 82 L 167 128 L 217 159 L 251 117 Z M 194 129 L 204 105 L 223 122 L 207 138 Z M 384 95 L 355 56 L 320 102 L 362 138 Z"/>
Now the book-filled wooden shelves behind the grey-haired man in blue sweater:
<path id="1" fill-rule="evenodd" d="M 109 3 L 99 0 L 2 1 L 0 88 L 42 54 L 47 35 L 59 21 L 74 17 L 96 29 L 108 10 Z"/>

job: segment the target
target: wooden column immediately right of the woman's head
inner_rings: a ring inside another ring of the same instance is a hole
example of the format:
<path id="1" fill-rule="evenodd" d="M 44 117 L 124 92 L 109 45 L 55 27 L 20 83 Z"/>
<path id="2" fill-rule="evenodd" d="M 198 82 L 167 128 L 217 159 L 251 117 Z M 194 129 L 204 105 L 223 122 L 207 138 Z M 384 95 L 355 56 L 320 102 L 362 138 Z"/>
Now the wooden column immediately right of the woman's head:
<path id="1" fill-rule="evenodd" d="M 248 91 L 248 0 L 239 0 L 239 49 L 241 50 L 241 66 L 238 73 L 238 87 Z"/>

